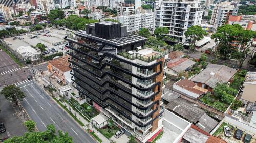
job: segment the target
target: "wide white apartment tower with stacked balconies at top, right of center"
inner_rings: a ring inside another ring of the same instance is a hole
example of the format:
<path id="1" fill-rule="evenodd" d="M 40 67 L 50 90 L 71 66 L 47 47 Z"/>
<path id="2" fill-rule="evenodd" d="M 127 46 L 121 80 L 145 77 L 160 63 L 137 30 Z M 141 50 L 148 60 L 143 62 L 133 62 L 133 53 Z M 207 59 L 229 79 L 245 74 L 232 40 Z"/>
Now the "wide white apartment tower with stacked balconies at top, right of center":
<path id="1" fill-rule="evenodd" d="M 201 25 L 203 10 L 199 0 L 170 0 L 156 3 L 155 28 L 167 27 L 169 36 L 186 42 L 184 35 L 188 27 Z"/>

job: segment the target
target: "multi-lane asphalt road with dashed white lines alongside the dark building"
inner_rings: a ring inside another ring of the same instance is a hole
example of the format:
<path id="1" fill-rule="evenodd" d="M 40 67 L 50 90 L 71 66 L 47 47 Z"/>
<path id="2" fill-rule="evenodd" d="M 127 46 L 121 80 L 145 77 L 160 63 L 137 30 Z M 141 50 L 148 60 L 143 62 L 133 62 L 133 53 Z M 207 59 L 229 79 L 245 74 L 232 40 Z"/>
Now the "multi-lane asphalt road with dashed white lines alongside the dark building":
<path id="1" fill-rule="evenodd" d="M 39 131 L 53 124 L 56 131 L 68 132 L 75 143 L 95 142 L 49 95 L 35 82 L 20 86 L 26 98 L 20 102 Z"/>

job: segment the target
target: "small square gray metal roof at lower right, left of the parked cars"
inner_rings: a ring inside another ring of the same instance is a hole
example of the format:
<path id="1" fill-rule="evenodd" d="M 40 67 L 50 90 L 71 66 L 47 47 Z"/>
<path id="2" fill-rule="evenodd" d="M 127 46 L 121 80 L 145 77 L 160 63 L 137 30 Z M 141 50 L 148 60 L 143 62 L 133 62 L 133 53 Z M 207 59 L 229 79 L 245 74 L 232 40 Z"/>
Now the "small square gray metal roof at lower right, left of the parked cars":
<path id="1" fill-rule="evenodd" d="M 198 126 L 200 129 L 206 131 L 207 133 L 210 133 L 212 129 L 215 128 L 215 126 L 218 124 L 218 122 L 211 117 L 209 117 L 206 113 L 204 113 L 203 116 L 198 120 L 196 126 Z"/>

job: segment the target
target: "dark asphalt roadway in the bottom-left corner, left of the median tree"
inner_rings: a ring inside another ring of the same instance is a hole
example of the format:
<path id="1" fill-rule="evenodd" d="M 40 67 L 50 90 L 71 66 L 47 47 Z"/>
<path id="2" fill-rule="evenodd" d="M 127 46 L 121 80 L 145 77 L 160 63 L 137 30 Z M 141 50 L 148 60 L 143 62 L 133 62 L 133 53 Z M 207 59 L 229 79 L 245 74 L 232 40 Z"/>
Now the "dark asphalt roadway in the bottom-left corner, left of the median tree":
<path id="1" fill-rule="evenodd" d="M 7 101 L 3 95 L 0 95 L 0 109 L 0 123 L 4 123 L 6 128 L 6 132 L 1 133 L 0 138 L 21 136 L 27 132 L 23 121 L 17 116 L 11 103 Z"/>

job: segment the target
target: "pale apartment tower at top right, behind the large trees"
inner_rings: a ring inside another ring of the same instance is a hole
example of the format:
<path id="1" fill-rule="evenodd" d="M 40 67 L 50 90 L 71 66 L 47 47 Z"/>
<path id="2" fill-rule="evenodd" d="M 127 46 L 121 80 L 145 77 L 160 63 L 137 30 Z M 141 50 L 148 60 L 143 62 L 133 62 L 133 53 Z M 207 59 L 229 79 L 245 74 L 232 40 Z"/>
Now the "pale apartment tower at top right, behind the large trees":
<path id="1" fill-rule="evenodd" d="M 231 5 L 230 2 L 222 2 L 217 4 L 212 10 L 210 24 L 214 25 L 214 31 L 220 27 L 223 22 L 226 23 L 230 15 L 237 15 L 238 8 Z"/>

